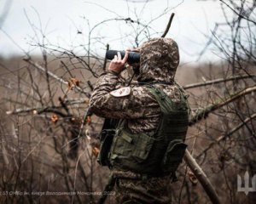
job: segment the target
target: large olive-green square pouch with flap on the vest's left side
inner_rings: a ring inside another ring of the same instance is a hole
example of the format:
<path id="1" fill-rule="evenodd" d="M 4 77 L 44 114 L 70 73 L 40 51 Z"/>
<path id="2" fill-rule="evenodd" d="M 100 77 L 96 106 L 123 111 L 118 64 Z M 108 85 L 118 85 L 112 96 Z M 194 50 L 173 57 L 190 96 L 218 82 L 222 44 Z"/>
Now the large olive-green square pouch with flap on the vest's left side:
<path id="1" fill-rule="evenodd" d="M 135 172 L 142 171 L 142 163 L 148 159 L 154 140 L 146 133 L 131 134 L 125 130 L 119 130 L 113 138 L 111 164 L 113 167 Z"/>

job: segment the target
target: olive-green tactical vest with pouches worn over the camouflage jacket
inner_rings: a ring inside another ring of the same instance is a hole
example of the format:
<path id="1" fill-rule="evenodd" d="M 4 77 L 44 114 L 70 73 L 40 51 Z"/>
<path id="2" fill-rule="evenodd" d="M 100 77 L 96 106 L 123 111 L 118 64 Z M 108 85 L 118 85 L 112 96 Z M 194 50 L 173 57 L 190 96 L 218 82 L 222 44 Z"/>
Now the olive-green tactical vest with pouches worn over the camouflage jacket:
<path id="1" fill-rule="evenodd" d="M 179 88 L 181 101 L 177 103 L 160 88 L 147 88 L 160 105 L 158 128 L 152 133 L 134 134 L 127 127 L 126 120 L 119 122 L 108 149 L 108 163 L 115 169 L 150 176 L 175 173 L 187 147 L 183 143 L 189 122 L 187 98 L 183 88 Z"/>

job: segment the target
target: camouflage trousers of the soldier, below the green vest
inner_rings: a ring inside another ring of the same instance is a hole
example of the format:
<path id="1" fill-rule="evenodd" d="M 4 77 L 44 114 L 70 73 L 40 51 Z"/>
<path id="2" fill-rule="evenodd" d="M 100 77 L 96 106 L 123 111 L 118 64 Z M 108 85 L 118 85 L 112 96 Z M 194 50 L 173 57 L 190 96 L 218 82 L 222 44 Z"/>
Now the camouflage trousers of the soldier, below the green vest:
<path id="1" fill-rule="evenodd" d="M 116 202 L 122 204 L 170 204 L 170 177 L 116 178 Z"/>

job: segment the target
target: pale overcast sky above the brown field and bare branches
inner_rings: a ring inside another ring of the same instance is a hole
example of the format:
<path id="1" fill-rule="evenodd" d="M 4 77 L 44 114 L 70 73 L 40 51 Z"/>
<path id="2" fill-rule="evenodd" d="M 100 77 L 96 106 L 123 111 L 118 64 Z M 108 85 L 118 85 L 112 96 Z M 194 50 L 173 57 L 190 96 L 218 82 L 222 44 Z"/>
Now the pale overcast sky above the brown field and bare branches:
<path id="1" fill-rule="evenodd" d="M 0 14 L 3 13 L 6 1 L 10 0 L 0 0 Z M 193 62 L 207 43 L 204 34 L 211 35 L 215 23 L 224 21 L 218 1 L 152 0 L 145 4 L 125 0 L 14 0 L 0 31 L 0 52 L 5 56 L 20 54 L 22 48 L 31 54 L 37 54 L 38 49 L 32 44 L 42 42 L 40 28 L 49 40 L 47 43 L 63 48 L 83 44 L 87 46 L 90 29 L 102 20 L 130 17 L 147 24 L 167 7 L 170 8 L 167 14 L 150 24 L 151 37 L 160 37 L 174 12 L 175 17 L 167 37 L 177 41 L 183 62 Z M 91 44 L 91 49 L 102 54 L 107 43 L 113 49 L 135 46 L 137 27 L 136 23 L 125 23 L 124 20 L 108 21 L 91 33 L 92 42 L 95 42 Z M 156 31 L 160 33 L 155 33 Z M 141 35 L 139 40 L 143 42 L 146 38 Z M 79 54 L 83 54 L 83 50 L 80 48 Z M 202 60 L 208 59 L 218 59 L 214 50 L 210 49 L 202 57 Z"/>

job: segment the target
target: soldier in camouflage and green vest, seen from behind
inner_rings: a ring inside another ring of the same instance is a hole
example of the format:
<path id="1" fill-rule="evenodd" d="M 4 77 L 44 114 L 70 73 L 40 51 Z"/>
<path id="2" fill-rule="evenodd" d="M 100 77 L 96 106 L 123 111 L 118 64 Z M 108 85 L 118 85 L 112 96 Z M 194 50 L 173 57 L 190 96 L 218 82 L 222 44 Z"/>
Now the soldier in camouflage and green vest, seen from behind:
<path id="1" fill-rule="evenodd" d="M 168 186 L 187 146 L 189 115 L 187 97 L 174 81 L 178 47 L 171 38 L 153 38 L 138 50 L 137 83 L 117 88 L 128 51 L 124 59 L 118 54 L 96 82 L 90 108 L 96 116 L 119 119 L 104 150 L 117 202 L 171 203 Z"/>

